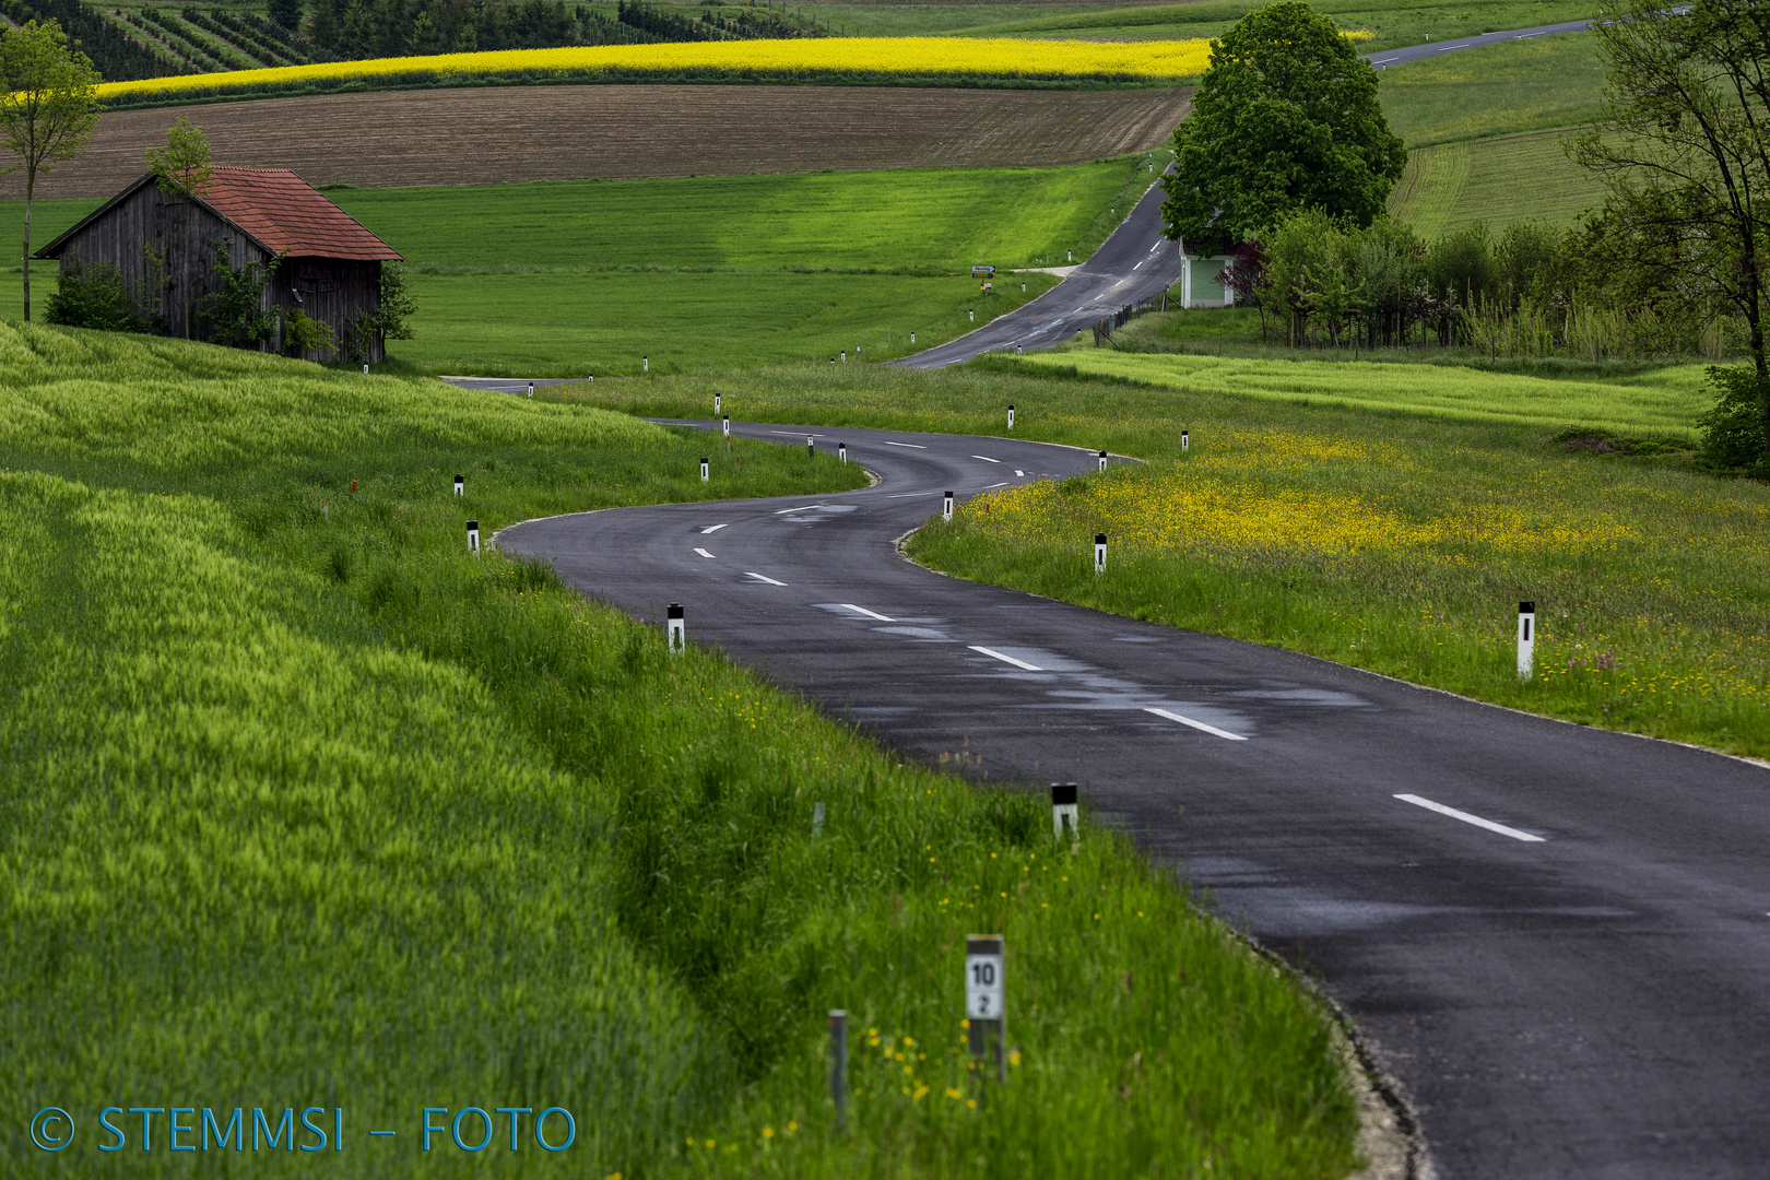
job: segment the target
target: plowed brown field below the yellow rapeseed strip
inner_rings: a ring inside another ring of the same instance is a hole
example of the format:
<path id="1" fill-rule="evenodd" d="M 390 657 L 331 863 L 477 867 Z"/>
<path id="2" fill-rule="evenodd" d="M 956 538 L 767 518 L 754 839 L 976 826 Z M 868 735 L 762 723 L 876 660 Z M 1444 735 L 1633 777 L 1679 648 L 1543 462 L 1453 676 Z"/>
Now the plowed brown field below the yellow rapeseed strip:
<path id="1" fill-rule="evenodd" d="M 39 196 L 110 196 L 177 115 L 218 163 L 402 188 L 874 168 L 1073 165 L 1159 147 L 1191 88 L 499 87 L 113 111 Z M 0 196 L 23 196 L 19 173 Z"/>

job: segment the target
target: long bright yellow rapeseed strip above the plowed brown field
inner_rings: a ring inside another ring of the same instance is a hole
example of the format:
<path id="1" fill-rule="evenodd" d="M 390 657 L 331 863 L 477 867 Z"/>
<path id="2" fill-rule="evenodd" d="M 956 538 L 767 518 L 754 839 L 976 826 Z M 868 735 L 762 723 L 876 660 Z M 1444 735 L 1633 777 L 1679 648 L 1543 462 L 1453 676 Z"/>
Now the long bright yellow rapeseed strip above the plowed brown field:
<path id="1" fill-rule="evenodd" d="M 814 37 L 795 41 L 697 41 L 687 44 L 568 46 L 384 57 L 108 81 L 99 99 L 147 103 L 182 96 L 333 88 L 350 83 L 421 85 L 483 76 L 979 76 L 1101 81 L 1177 81 L 1204 73 L 1209 41 L 1020 41 L 1012 37 Z"/>

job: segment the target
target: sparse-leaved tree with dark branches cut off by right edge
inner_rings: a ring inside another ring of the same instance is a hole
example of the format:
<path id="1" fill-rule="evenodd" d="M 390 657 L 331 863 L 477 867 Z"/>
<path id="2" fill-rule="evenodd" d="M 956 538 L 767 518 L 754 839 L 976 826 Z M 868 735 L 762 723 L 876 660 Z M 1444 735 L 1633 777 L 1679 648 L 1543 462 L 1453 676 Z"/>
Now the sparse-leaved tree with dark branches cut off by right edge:
<path id="1" fill-rule="evenodd" d="M 1637 255 L 1674 258 L 1692 295 L 1717 294 L 1745 318 L 1752 373 L 1720 382 L 1722 407 L 1736 412 L 1740 389 L 1756 387 L 1770 464 L 1770 5 L 1697 0 L 1673 14 L 1635 0 L 1593 34 L 1605 106 L 1570 154 L 1609 188 L 1605 234 Z"/>

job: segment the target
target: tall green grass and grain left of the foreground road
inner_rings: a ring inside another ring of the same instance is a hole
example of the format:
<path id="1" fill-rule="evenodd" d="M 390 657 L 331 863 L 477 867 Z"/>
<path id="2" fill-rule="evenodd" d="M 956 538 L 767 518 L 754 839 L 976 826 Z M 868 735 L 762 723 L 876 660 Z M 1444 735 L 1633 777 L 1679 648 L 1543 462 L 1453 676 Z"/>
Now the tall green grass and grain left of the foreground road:
<path id="1" fill-rule="evenodd" d="M 740 441 L 708 487 L 701 449 L 540 398 L 0 327 L 0 1104 L 80 1127 L 42 1155 L 0 1122 L 0 1157 L 186 1175 L 165 1116 L 154 1152 L 112 1116 L 129 1150 L 97 1155 L 99 1109 L 322 1106 L 347 1111 L 336 1175 L 466 1176 L 492 1161 L 425 1153 L 423 1107 L 561 1106 L 595 1176 L 1351 1168 L 1319 1010 L 1124 842 L 1060 853 L 1035 798 L 899 766 L 464 552 L 466 517 L 862 478 Z M 1011 948 L 1000 1092 L 959 1051 L 974 931 Z M 561 1166 L 504 1134 L 499 1175 Z"/>

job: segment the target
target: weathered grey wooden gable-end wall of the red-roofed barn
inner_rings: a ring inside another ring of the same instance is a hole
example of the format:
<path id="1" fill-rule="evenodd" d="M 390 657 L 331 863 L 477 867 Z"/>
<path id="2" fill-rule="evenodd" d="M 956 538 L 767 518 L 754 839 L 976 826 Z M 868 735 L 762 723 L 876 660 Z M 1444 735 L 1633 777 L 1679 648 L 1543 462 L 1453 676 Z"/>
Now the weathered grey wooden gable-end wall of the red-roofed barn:
<path id="1" fill-rule="evenodd" d="M 211 274 L 216 241 L 234 267 L 267 260 L 264 249 L 204 205 L 149 184 L 69 241 L 62 265 L 108 262 L 122 271 L 142 308 L 166 318 L 173 336 L 200 340 L 205 326 L 196 308 L 221 287 Z"/>

